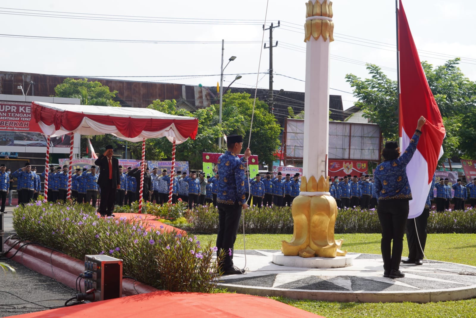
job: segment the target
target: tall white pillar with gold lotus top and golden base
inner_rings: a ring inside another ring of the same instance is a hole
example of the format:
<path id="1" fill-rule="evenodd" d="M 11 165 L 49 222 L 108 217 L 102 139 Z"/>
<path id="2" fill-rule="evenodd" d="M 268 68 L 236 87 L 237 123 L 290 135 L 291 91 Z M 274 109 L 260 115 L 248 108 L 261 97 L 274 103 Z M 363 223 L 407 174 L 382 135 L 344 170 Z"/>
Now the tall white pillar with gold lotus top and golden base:
<path id="1" fill-rule="evenodd" d="M 344 256 L 342 240 L 334 239 L 336 200 L 327 177 L 329 146 L 329 45 L 334 40 L 332 2 L 309 0 L 304 25 L 306 90 L 304 98 L 304 162 L 301 192 L 291 211 L 294 232 L 282 242 L 286 256 Z"/>

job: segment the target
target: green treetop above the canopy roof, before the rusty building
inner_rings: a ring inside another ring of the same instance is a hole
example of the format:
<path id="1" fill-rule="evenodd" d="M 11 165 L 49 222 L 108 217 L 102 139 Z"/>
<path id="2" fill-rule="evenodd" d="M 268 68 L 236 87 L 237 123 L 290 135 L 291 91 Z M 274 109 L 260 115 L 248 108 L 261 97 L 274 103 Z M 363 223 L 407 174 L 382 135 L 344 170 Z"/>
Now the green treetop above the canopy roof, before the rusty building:
<path id="1" fill-rule="evenodd" d="M 81 99 L 81 105 L 115 106 L 120 107 L 118 101 L 113 100 L 117 90 L 110 91 L 99 81 L 90 82 L 88 79 L 64 79 L 55 87 L 56 97 L 69 97 Z"/>

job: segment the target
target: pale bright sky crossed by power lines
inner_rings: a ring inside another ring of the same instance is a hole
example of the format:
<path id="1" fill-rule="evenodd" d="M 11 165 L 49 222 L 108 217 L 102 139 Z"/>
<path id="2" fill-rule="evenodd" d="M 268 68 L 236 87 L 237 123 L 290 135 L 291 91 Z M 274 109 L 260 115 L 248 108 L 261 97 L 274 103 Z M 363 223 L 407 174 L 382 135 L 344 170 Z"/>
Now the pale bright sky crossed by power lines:
<path id="1" fill-rule="evenodd" d="M 273 88 L 303 92 L 305 3 L 2 1 L 0 71 L 216 86 L 223 39 L 225 64 L 237 57 L 224 71 L 223 85 L 240 74 L 232 87 L 255 87 L 258 81 L 259 88 L 268 89 L 269 50 L 262 47 L 262 40 L 269 44 L 269 31 L 263 36 L 262 28 L 266 18 L 266 28 L 280 21 L 273 31 L 273 44 L 278 41 Z M 437 66 L 461 57 L 461 70 L 476 80 L 476 3 L 405 0 L 403 5 L 420 59 Z M 397 78 L 395 1 L 335 0 L 333 11 L 329 92 L 342 95 L 347 109 L 356 98 L 346 74 L 366 78 L 366 63 L 373 63 Z"/>

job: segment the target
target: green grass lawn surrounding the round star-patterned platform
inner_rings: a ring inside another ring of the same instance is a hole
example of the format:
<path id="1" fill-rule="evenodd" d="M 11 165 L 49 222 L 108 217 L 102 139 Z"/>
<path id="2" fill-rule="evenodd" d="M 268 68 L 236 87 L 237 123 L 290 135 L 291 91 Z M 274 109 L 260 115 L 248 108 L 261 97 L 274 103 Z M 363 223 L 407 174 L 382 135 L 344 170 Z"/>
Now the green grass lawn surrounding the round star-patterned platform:
<path id="1" fill-rule="evenodd" d="M 216 235 L 198 235 L 202 242 Z M 291 239 L 288 234 L 246 235 L 247 249 L 279 249 L 281 241 Z M 380 234 L 336 234 L 344 239 L 343 249 L 355 253 L 380 254 Z M 403 244 L 403 257 L 408 254 L 407 242 Z M 238 234 L 236 249 L 243 249 L 243 234 Z M 429 234 L 426 240 L 426 258 L 476 266 L 476 234 Z M 316 300 L 296 300 L 273 297 L 278 301 L 319 314 L 327 318 L 392 317 L 392 318 L 440 318 L 476 317 L 476 298 L 437 303 L 339 303 Z"/>

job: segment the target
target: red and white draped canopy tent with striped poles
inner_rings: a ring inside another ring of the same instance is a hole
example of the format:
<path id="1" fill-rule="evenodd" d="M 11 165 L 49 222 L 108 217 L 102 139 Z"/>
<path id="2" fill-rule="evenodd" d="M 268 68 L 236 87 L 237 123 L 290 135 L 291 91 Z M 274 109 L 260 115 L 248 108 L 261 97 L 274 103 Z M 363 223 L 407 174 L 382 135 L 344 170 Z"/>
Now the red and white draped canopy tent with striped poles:
<path id="1" fill-rule="evenodd" d="M 198 119 L 174 116 L 154 109 L 122 108 L 93 105 L 54 104 L 33 101 L 31 110 L 41 132 L 47 136 L 45 199 L 48 197 L 48 165 L 50 137 L 71 134 L 69 162 L 73 156 L 74 133 L 81 135 L 111 134 L 132 142 L 142 141 L 142 164 L 139 190 L 139 213 L 142 208 L 144 181 L 145 140 L 167 137 L 173 143 L 172 172 L 170 178 L 169 202 L 172 198 L 173 174 L 175 172 L 175 145 L 188 138 L 195 139 Z M 72 165 L 69 165 L 68 198 L 71 194 Z"/>

